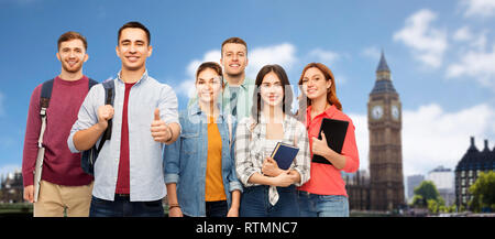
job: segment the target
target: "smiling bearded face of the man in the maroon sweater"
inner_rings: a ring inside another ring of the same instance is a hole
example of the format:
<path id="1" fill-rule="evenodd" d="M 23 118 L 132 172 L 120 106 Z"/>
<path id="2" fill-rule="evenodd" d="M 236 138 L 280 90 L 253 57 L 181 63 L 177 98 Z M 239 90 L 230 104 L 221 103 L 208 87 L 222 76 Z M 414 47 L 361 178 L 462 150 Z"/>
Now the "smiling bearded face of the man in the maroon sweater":
<path id="1" fill-rule="evenodd" d="M 85 45 L 79 39 L 62 42 L 56 55 L 62 63 L 62 70 L 67 73 L 81 70 L 82 64 L 88 61 Z"/>

